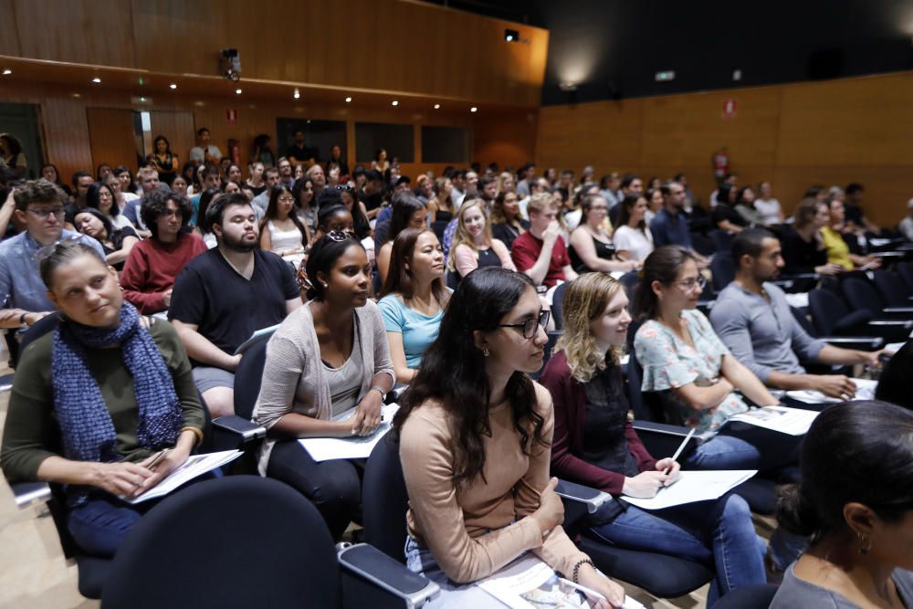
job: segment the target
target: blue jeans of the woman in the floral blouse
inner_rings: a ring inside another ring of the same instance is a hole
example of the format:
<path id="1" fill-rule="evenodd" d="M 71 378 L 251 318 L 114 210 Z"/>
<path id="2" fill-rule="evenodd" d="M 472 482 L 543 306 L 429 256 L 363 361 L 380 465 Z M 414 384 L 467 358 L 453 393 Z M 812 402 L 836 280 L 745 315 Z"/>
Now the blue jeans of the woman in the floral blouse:
<path id="1" fill-rule="evenodd" d="M 789 436 L 755 425 L 733 425 L 704 442 L 685 459 L 687 469 L 776 470 L 799 463 L 804 436 Z"/>

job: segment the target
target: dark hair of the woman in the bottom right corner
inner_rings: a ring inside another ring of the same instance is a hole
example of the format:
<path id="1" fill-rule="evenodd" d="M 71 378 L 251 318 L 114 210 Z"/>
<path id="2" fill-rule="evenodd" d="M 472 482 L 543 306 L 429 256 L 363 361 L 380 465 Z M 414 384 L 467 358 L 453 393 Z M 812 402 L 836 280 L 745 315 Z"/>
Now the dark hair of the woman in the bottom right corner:
<path id="1" fill-rule="evenodd" d="M 833 404 L 814 420 L 799 461 L 802 482 L 782 488 L 786 530 L 847 535 L 844 506 L 856 501 L 885 522 L 913 510 L 913 413 L 887 402 Z"/>

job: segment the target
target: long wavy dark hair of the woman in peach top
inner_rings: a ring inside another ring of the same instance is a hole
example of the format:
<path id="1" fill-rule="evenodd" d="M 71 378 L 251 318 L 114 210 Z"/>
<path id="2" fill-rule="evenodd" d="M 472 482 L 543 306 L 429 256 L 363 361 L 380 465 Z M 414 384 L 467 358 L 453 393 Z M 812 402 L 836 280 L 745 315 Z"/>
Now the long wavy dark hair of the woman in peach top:
<path id="1" fill-rule="evenodd" d="M 418 374 L 400 400 L 394 418 L 395 437 L 412 411 L 425 402 L 436 400 L 446 410 L 453 438 L 456 488 L 471 487 L 480 474 L 483 483 L 486 481 L 483 437 L 491 434 L 491 383 L 473 331 L 496 330 L 528 289 L 534 289 L 530 278 L 501 267 L 478 268 L 463 278 L 450 296 L 436 341 L 425 350 Z M 523 453 L 530 455 L 532 442 L 548 446 L 542 437 L 545 421 L 536 411 L 536 389 L 530 377 L 521 372 L 511 374 L 505 394 Z"/>

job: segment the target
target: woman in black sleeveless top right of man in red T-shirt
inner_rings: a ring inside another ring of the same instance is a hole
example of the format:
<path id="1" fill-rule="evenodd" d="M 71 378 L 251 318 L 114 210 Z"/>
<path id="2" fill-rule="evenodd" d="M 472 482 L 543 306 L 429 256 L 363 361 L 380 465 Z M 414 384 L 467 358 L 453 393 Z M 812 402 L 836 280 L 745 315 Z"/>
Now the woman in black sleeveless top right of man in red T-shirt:
<path id="1" fill-rule="evenodd" d="M 602 195 L 586 195 L 581 204 L 581 211 L 582 222 L 571 233 L 569 251 L 571 265 L 577 273 L 627 272 L 640 268 L 639 260 L 618 257 L 612 237 L 603 228 L 608 204 Z"/>

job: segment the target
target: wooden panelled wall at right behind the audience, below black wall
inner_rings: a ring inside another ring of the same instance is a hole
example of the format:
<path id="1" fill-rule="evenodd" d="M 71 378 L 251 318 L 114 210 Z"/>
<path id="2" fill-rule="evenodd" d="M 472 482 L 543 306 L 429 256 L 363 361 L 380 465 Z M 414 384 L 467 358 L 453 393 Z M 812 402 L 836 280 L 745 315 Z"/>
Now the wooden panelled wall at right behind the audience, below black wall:
<path id="1" fill-rule="evenodd" d="M 723 102 L 736 116 L 722 118 Z M 866 186 L 866 214 L 893 226 L 913 196 L 913 73 L 731 89 L 540 110 L 540 167 L 647 179 L 683 172 L 707 201 L 711 154 L 727 146 L 740 185 L 770 180 L 791 212 L 812 184 Z"/>

